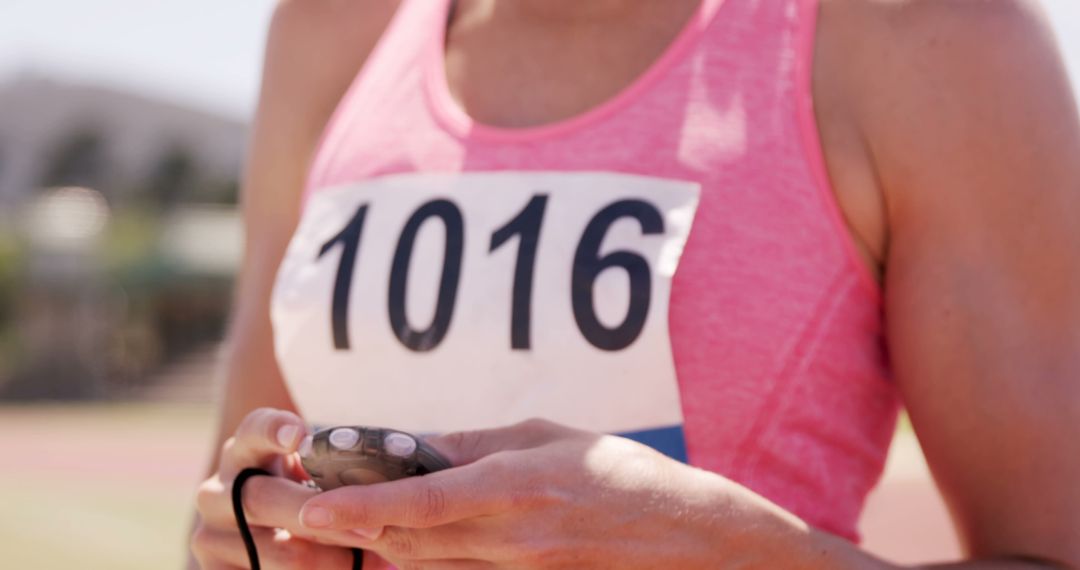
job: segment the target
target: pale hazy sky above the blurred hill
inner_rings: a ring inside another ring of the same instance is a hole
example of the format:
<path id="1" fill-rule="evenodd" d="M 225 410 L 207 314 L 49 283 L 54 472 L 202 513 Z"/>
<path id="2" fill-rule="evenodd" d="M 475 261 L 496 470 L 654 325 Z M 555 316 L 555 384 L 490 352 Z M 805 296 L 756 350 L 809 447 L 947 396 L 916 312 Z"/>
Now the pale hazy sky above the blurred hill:
<path id="1" fill-rule="evenodd" d="M 105 83 L 246 118 L 275 0 L 0 0 L 0 80 Z M 1080 93 L 1080 0 L 1042 0 Z"/>

